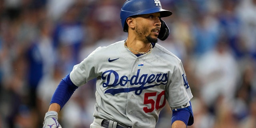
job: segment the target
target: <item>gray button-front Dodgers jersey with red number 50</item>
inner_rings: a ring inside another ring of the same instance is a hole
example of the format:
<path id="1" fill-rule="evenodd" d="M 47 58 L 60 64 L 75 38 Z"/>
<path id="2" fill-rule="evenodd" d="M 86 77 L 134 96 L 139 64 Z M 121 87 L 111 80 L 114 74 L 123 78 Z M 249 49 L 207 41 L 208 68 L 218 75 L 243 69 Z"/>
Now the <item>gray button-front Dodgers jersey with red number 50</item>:
<path id="1" fill-rule="evenodd" d="M 139 57 L 124 40 L 97 48 L 70 73 L 76 86 L 93 78 L 94 116 L 133 128 L 154 128 L 166 100 L 179 107 L 193 97 L 181 60 L 159 44 Z"/>

